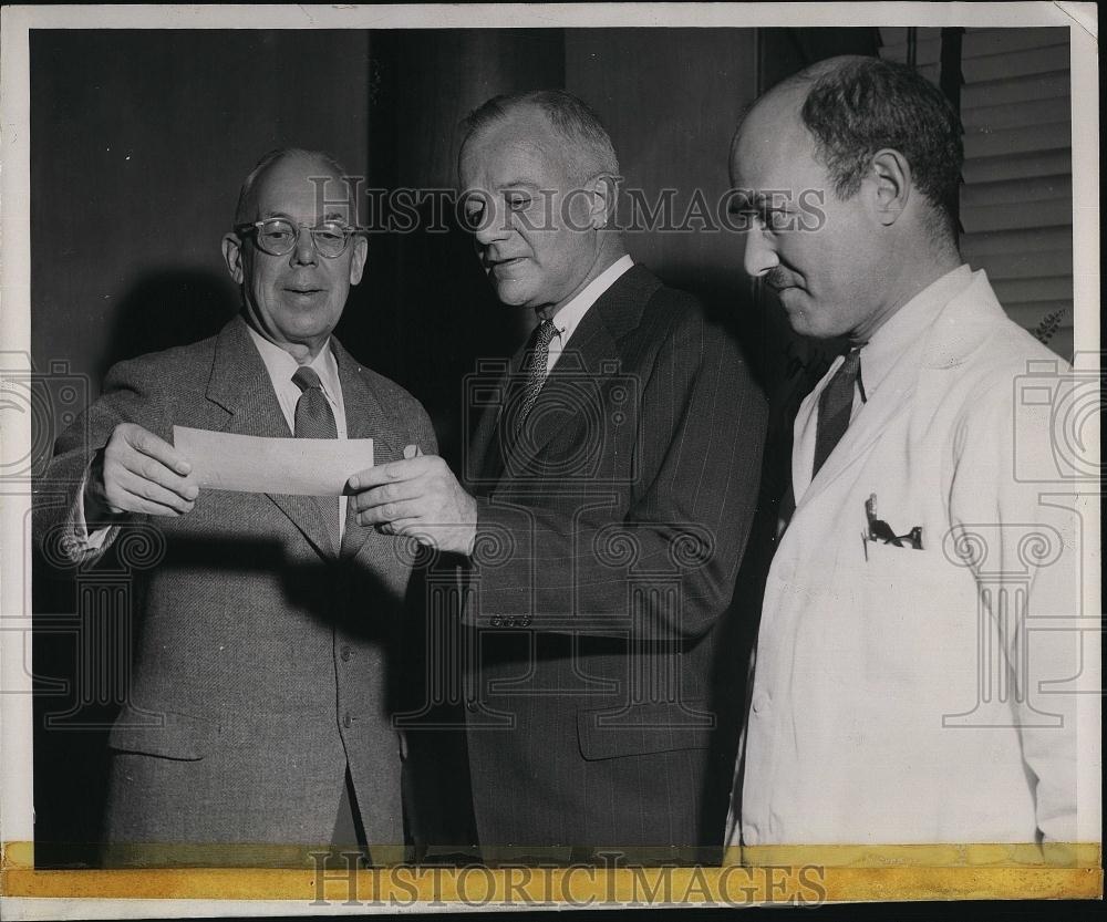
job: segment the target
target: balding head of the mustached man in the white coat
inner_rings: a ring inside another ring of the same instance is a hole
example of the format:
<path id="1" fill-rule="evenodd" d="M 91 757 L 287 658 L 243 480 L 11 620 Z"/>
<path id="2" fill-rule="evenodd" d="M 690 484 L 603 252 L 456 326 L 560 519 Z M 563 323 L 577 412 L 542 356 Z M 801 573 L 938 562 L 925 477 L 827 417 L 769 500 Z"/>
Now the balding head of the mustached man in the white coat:
<path id="1" fill-rule="evenodd" d="M 956 117 L 922 77 L 869 58 L 808 68 L 731 145 L 746 271 L 797 332 L 866 341 L 960 263 L 946 208 L 960 162 Z"/>

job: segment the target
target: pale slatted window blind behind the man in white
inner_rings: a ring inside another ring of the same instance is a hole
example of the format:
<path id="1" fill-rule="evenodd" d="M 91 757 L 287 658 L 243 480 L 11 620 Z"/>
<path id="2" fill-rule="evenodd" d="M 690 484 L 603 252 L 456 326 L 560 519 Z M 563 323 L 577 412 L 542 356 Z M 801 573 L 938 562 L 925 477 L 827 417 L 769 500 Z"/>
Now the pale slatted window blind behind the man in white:
<path id="1" fill-rule="evenodd" d="M 881 56 L 939 82 L 941 29 L 881 29 Z M 1073 354 L 1068 30 L 965 29 L 961 251 L 1010 317 Z"/>

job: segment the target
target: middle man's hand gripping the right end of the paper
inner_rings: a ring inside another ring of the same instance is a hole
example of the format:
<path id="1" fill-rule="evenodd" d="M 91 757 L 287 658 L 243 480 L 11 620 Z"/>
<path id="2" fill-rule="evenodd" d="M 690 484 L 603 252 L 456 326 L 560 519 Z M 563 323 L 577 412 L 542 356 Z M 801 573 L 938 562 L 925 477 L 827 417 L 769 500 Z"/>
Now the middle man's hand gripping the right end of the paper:
<path id="1" fill-rule="evenodd" d="M 404 456 L 404 460 L 350 478 L 348 489 L 354 494 L 350 501 L 358 521 L 375 525 L 385 535 L 407 535 L 438 550 L 470 553 L 477 531 L 476 500 L 437 455 L 405 449 Z"/>

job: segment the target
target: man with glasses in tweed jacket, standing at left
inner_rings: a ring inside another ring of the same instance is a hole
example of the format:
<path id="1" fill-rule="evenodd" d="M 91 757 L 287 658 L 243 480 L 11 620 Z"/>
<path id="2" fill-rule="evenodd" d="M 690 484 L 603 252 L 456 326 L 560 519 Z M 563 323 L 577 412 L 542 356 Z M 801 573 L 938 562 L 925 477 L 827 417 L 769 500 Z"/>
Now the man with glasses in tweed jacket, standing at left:
<path id="1" fill-rule="evenodd" d="M 352 197 L 329 200 L 341 176 L 322 154 L 262 158 L 224 240 L 241 314 L 112 369 L 38 485 L 55 552 L 87 563 L 144 530 L 159 557 L 134 584 L 107 863 L 302 866 L 332 840 L 400 856 L 405 539 L 344 519 L 344 498 L 200 490 L 169 444 L 174 425 L 291 437 L 308 366 L 339 437 L 372 437 L 377 463 L 435 452 L 418 402 L 331 336 L 366 256 Z M 310 177 L 328 177 L 325 214 Z"/>

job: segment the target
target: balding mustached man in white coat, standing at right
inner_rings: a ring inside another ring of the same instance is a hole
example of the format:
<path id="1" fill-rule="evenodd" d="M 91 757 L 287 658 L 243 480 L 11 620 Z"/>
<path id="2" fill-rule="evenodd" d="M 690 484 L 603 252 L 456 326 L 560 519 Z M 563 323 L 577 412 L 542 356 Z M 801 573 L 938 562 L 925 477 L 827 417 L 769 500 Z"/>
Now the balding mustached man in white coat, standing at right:
<path id="1" fill-rule="evenodd" d="M 732 145 L 746 271 L 796 332 L 851 345 L 795 423 L 727 823 L 747 861 L 1077 840 L 1099 745 L 1070 693 L 1077 517 L 1020 473 L 1057 464 L 1027 371 L 1048 392 L 1067 364 L 962 263 L 961 162 L 939 90 L 866 58 L 778 85 Z"/>

